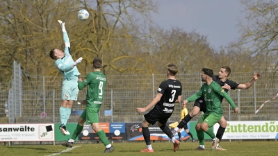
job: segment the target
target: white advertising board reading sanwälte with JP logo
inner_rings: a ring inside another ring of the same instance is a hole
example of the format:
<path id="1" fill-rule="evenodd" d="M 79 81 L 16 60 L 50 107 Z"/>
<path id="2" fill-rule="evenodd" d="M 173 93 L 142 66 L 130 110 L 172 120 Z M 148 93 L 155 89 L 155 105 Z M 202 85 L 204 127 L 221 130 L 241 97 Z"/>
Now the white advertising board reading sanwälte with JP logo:
<path id="1" fill-rule="evenodd" d="M 55 141 L 54 123 L 0 124 L 0 141 Z"/>

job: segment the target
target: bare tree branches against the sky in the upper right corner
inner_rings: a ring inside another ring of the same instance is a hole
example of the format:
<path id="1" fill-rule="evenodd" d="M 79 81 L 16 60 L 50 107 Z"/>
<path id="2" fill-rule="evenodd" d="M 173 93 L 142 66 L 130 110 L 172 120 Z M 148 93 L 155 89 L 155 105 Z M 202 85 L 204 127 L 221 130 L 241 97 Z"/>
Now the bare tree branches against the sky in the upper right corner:
<path id="1" fill-rule="evenodd" d="M 245 20 L 240 20 L 240 44 L 255 58 L 269 55 L 277 58 L 278 3 L 272 0 L 243 0 Z M 268 60 L 268 65 L 277 59 Z"/>

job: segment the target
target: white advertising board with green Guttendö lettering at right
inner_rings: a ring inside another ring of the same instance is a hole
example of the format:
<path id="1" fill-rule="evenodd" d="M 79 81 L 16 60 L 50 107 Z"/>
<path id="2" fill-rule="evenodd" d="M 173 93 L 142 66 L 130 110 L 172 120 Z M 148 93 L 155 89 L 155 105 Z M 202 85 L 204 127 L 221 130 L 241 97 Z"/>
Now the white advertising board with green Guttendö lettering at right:
<path id="1" fill-rule="evenodd" d="M 278 139 L 278 121 L 227 121 L 222 139 Z M 213 126 L 216 135 L 219 124 Z"/>

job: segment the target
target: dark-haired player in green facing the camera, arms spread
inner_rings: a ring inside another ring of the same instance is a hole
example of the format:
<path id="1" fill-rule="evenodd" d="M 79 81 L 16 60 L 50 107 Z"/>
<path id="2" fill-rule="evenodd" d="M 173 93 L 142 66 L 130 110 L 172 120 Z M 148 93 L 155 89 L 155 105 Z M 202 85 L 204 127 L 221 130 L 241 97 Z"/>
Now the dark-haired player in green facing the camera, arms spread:
<path id="1" fill-rule="evenodd" d="M 215 125 L 222 118 L 223 111 L 221 106 L 222 97 L 226 98 L 231 107 L 234 108 L 234 112 L 238 114 L 238 107 L 234 104 L 234 101 L 231 100 L 231 97 L 227 92 L 224 92 L 224 89 L 218 83 L 213 81 L 213 70 L 211 69 L 202 69 L 202 81 L 206 82 L 202 85 L 201 89 L 187 98 L 183 103 L 188 103 L 191 101 L 195 101 L 197 98 L 204 96 L 204 101 L 206 103 L 206 112 L 199 119 L 196 125 L 197 137 L 199 139 L 200 146 L 198 148 L 204 149 L 204 132 L 208 134 L 213 139 L 213 145 L 211 146 L 211 150 L 214 150 L 219 142 L 219 139 L 215 137 L 213 130 L 211 127 Z M 204 131 L 204 132 L 203 132 Z"/>

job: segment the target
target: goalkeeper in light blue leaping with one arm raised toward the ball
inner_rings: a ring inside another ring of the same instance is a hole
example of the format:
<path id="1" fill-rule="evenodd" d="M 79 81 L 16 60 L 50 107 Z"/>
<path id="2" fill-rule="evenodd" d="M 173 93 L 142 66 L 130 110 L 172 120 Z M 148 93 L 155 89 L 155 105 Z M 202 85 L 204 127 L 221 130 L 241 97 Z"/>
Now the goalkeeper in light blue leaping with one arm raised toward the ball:
<path id="1" fill-rule="evenodd" d="M 78 76 L 80 75 L 76 64 L 80 63 L 82 58 L 77 59 L 75 62 L 70 54 L 70 39 L 65 31 L 65 22 L 58 20 L 63 31 L 63 38 L 65 42 L 64 52 L 59 49 L 51 49 L 49 56 L 56 60 L 56 68 L 63 74 L 62 82 L 62 104 L 60 107 L 60 130 L 63 135 L 70 135 L 70 132 L 66 128 L 68 119 L 70 119 L 70 113 L 72 104 L 77 101 L 79 89 L 77 87 Z"/>

